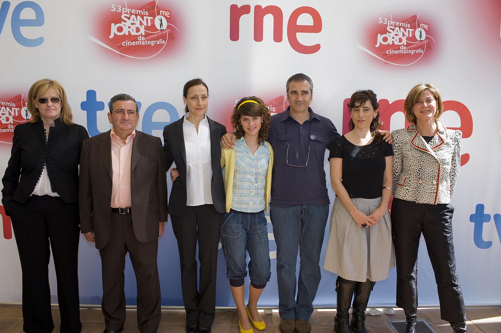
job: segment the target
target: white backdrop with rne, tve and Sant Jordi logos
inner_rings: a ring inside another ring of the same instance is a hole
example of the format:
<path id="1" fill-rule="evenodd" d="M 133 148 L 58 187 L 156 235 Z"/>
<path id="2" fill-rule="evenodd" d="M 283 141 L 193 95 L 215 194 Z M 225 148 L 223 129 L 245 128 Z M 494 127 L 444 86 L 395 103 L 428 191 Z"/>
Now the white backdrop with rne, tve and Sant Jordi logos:
<path id="1" fill-rule="evenodd" d="M 262 23 L 263 12 L 269 14 Z M 138 129 L 160 137 L 164 125 L 183 114 L 182 86 L 193 77 L 209 86 L 208 115 L 230 130 L 235 100 L 257 95 L 272 112 L 280 112 L 287 78 L 304 72 L 314 82 L 312 108 L 330 117 L 340 132 L 347 131 L 345 99 L 354 90 L 371 88 L 378 94 L 385 129 L 392 130 L 405 124 L 400 111 L 409 89 L 431 81 L 447 101 L 441 121 L 463 131 L 464 165 L 452 203 L 465 303 L 499 304 L 500 27 L 498 0 L 0 1 L 0 169 L 7 166 L 14 126 L 25 121 L 28 89 L 44 77 L 65 86 L 74 120 L 91 135 L 110 128 L 108 101 L 124 92 L 141 102 Z M 334 192 L 329 193 L 332 202 Z M 2 208 L 0 301 L 16 302 L 21 301 L 21 267 Z M 177 244 L 170 224 L 166 230 L 158 253 L 162 305 L 182 305 Z M 262 306 L 278 305 L 271 224 L 269 231 L 272 279 Z M 101 301 L 100 264 L 98 251 L 82 236 L 81 303 Z M 437 304 L 424 241 L 418 266 L 419 302 Z M 225 272 L 220 251 L 219 306 L 233 304 Z M 315 305 L 335 304 L 335 278 L 322 272 Z M 127 261 L 128 304 L 135 304 L 135 292 Z M 370 303 L 395 303 L 394 269 L 376 284 Z"/>

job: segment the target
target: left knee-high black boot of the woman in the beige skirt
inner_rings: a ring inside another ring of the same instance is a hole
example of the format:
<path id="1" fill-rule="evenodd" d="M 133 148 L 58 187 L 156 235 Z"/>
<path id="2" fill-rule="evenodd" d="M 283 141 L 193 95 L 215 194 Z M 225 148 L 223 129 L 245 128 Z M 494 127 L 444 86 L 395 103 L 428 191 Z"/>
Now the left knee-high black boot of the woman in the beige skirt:
<path id="1" fill-rule="evenodd" d="M 350 329 L 351 299 L 355 291 L 356 281 L 346 280 L 338 276 L 336 280 L 337 312 L 334 318 L 334 331 L 336 333 L 352 333 Z"/>

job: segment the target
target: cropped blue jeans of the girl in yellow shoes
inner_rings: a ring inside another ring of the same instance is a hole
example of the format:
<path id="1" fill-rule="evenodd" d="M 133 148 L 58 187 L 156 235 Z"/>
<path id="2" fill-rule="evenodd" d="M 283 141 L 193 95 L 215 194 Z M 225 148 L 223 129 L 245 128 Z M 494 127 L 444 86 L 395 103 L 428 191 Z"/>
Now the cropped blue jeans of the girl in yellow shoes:
<path id="1" fill-rule="evenodd" d="M 249 277 L 254 284 L 270 280 L 270 244 L 264 213 L 241 214 L 225 212 L 221 219 L 221 244 L 226 258 L 227 276 L 240 279 L 247 276 L 245 261 L 248 251 Z"/>

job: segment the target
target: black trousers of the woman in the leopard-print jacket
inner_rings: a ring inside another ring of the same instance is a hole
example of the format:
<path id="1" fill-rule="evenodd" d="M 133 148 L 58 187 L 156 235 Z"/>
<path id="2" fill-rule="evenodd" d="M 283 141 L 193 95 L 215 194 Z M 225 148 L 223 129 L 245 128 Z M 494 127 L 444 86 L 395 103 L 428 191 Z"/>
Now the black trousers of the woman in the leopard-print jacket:
<path id="1" fill-rule="evenodd" d="M 449 204 L 416 203 L 393 198 L 391 224 L 397 266 L 396 305 L 417 308 L 417 250 L 421 232 L 435 273 L 443 320 L 466 319 L 463 295 L 456 274 L 452 243 L 452 214 Z"/>

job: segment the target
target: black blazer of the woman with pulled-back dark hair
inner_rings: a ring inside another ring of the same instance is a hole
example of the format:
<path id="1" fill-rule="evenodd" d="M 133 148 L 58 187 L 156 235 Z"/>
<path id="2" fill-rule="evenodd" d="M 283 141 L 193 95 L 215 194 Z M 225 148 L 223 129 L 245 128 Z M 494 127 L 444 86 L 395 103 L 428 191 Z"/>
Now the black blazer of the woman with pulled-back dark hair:
<path id="1" fill-rule="evenodd" d="M 174 216 L 182 216 L 186 208 L 186 148 L 184 147 L 183 121 L 181 119 L 163 128 L 163 149 L 167 158 L 167 171 L 172 162 L 176 162 L 179 176 L 172 183 L 169 196 L 168 211 Z M 226 127 L 207 117 L 210 130 L 210 163 L 212 164 L 212 180 L 210 189 L 212 202 L 218 212 L 225 212 L 224 180 L 221 172 L 221 145 L 219 140 L 226 134 Z"/>

